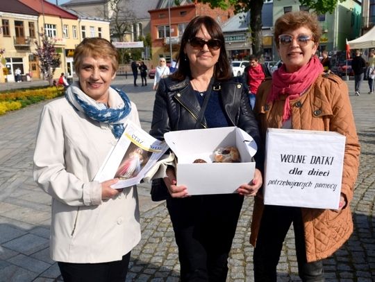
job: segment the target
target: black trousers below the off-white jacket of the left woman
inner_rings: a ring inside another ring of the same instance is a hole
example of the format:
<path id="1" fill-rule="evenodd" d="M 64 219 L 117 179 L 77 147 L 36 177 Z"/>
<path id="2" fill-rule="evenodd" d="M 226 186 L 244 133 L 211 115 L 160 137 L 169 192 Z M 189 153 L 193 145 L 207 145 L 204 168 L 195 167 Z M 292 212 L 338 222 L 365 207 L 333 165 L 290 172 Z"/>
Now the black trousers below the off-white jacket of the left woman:
<path id="1" fill-rule="evenodd" d="M 124 282 L 131 252 L 122 261 L 108 263 L 62 263 L 58 262 L 64 282 Z"/>

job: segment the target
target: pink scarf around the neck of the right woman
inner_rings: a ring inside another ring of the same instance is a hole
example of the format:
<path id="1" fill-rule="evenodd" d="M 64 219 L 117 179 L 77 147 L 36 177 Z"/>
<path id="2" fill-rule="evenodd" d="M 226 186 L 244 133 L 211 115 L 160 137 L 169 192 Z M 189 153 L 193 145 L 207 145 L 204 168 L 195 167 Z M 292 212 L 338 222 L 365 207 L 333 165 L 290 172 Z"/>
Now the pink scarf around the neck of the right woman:
<path id="1" fill-rule="evenodd" d="M 323 71 L 323 66 L 317 56 L 294 73 L 287 73 L 285 65 L 277 69 L 272 74 L 272 90 L 267 98 L 267 102 L 274 102 L 279 95 L 287 95 L 284 105 L 283 122 L 290 118 L 291 109 L 289 101 L 298 98 L 308 89 Z"/>

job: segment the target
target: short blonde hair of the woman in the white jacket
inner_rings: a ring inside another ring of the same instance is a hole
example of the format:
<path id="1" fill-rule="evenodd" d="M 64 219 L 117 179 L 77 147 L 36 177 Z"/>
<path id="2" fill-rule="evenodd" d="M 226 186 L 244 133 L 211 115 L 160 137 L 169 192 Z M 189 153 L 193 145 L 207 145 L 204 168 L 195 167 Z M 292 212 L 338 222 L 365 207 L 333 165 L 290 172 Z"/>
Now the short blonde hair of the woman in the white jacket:
<path id="1" fill-rule="evenodd" d="M 109 58 L 112 60 L 113 71 L 119 68 L 119 55 L 115 46 L 107 39 L 91 37 L 82 40 L 74 51 L 74 68 L 79 70 L 83 57 Z"/>

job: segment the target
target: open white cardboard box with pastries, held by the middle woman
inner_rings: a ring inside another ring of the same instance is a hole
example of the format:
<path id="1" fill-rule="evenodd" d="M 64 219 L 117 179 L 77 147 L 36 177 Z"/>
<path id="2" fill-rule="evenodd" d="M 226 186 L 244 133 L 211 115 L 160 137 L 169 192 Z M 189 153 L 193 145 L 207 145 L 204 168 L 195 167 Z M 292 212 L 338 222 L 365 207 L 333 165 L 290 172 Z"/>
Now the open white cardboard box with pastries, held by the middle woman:
<path id="1" fill-rule="evenodd" d="M 167 132 L 164 138 L 178 158 L 177 185 L 185 185 L 189 195 L 235 193 L 253 179 L 256 142 L 238 127 L 180 130 Z M 213 152 L 226 146 L 238 148 L 241 163 L 213 163 Z M 195 159 L 207 163 L 193 164 Z"/>

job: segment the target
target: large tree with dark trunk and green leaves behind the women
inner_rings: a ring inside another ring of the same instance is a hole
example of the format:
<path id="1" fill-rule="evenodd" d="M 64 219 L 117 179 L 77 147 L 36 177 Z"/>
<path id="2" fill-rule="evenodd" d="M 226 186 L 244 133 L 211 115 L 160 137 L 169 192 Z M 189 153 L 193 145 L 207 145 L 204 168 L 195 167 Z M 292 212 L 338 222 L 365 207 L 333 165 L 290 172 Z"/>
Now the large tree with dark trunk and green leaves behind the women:
<path id="1" fill-rule="evenodd" d="M 262 8 L 264 0 L 197 0 L 201 3 L 208 3 L 211 8 L 222 8 L 227 10 L 233 7 L 235 13 L 250 11 L 251 42 L 253 54 L 259 58 L 263 54 L 263 36 L 262 36 Z M 281 1 L 281 0 L 278 0 Z M 315 10 L 318 14 L 332 13 L 338 1 L 345 0 L 300 0 L 301 6 L 306 6 Z"/>

